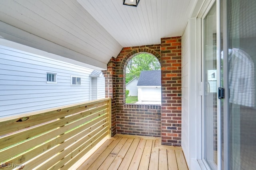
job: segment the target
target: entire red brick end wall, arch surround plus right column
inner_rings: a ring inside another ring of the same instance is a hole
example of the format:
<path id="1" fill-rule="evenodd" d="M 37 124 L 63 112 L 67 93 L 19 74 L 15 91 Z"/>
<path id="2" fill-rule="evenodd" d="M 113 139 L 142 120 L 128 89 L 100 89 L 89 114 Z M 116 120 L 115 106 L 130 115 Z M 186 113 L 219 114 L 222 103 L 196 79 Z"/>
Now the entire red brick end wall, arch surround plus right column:
<path id="1" fill-rule="evenodd" d="M 161 63 L 161 106 L 125 104 L 126 65 L 140 53 L 150 53 Z M 125 47 L 110 60 L 104 75 L 106 96 L 112 98 L 112 135 L 161 136 L 163 145 L 181 145 L 181 37 L 163 38 L 160 45 Z"/>

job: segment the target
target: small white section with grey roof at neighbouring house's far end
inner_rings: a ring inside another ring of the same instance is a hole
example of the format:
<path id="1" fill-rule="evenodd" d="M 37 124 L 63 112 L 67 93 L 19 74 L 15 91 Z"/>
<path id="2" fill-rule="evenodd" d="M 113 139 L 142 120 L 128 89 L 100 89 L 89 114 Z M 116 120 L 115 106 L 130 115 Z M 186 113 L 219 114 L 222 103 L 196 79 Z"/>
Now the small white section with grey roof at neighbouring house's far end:
<path id="1" fill-rule="evenodd" d="M 105 98 L 105 77 L 102 71 L 94 70 L 90 74 L 90 100 Z"/>

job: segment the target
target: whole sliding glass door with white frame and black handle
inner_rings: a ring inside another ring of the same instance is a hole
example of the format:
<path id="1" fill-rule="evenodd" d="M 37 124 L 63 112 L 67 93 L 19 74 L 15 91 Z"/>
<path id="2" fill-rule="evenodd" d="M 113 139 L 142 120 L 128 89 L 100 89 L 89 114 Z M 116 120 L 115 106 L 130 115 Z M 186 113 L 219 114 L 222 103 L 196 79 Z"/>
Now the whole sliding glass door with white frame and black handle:
<path id="1" fill-rule="evenodd" d="M 255 0 L 209 3 L 202 66 L 204 162 L 211 169 L 256 170 Z"/>

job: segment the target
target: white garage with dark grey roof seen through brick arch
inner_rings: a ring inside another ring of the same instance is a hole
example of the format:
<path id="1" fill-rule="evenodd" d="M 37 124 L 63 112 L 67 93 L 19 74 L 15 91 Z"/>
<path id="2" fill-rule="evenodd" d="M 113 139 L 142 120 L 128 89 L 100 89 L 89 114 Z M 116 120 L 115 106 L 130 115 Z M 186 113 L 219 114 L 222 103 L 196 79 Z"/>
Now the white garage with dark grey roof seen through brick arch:
<path id="1" fill-rule="evenodd" d="M 161 101 L 161 70 L 141 71 L 138 80 L 138 101 Z"/>

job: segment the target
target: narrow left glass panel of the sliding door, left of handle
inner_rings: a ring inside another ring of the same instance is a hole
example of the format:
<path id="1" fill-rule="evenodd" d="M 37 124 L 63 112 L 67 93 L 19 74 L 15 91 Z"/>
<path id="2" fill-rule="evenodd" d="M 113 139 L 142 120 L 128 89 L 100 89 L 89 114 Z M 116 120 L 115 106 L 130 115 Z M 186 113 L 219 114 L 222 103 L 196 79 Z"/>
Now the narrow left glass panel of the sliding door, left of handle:
<path id="1" fill-rule="evenodd" d="M 203 21 L 204 30 L 204 158 L 212 169 L 217 165 L 217 51 L 216 4 Z"/>

